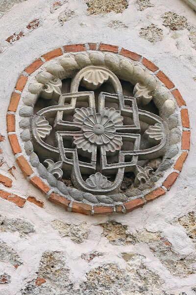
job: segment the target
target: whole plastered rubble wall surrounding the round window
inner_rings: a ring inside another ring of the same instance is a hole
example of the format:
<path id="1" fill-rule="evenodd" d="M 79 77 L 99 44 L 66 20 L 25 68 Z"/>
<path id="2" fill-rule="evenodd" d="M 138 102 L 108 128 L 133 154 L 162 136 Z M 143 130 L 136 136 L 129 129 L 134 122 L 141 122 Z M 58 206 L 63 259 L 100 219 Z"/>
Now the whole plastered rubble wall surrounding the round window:
<path id="1" fill-rule="evenodd" d="M 5 119 L 19 74 L 36 57 L 103 42 L 158 65 L 194 127 L 196 12 L 182 0 L 3 0 L 0 17 L 0 295 L 196 294 L 195 128 L 165 196 L 126 215 L 95 217 L 51 204 L 24 178 Z"/>

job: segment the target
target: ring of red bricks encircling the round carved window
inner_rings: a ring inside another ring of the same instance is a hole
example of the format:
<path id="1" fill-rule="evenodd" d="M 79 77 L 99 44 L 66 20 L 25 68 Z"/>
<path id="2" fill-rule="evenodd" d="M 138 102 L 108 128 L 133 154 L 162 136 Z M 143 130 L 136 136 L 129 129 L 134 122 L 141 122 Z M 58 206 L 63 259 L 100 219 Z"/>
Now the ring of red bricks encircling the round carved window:
<path id="1" fill-rule="evenodd" d="M 87 50 L 96 50 L 98 48 L 99 51 L 108 51 L 113 53 L 119 52 L 118 46 L 108 45 L 108 44 L 97 44 L 97 43 L 89 43 L 89 44 L 75 44 L 75 45 L 66 45 L 63 46 L 62 49 L 58 48 L 53 51 L 50 51 L 49 53 L 42 55 L 41 58 L 36 59 L 33 63 L 31 63 L 28 67 L 25 68 L 25 74 L 21 74 L 16 86 L 15 90 L 12 93 L 11 101 L 8 107 L 8 114 L 7 114 L 7 132 L 8 132 L 8 138 L 10 141 L 10 145 L 12 147 L 12 151 L 14 155 L 18 155 L 16 158 L 16 162 L 21 168 L 23 174 L 25 177 L 28 177 L 30 182 L 33 183 L 43 194 L 47 194 L 50 190 L 49 186 L 40 178 L 37 176 L 31 176 L 33 174 L 33 170 L 25 157 L 21 154 L 22 148 L 20 147 L 17 134 L 16 134 L 16 128 L 15 128 L 15 114 L 18 108 L 18 104 L 21 98 L 21 94 L 23 89 L 25 88 L 25 84 L 28 79 L 28 75 L 33 73 L 35 70 L 37 70 L 41 65 L 44 64 L 44 61 L 49 61 L 50 59 L 57 58 L 61 55 L 63 55 L 63 51 L 65 53 L 69 52 L 81 52 L 81 51 L 87 51 Z M 62 51 L 63 50 L 63 51 Z M 98 215 L 98 214 L 106 214 L 106 213 L 124 213 L 124 212 L 130 212 L 138 207 L 142 207 L 147 202 L 150 202 L 162 195 L 164 195 L 172 186 L 172 184 L 175 182 L 176 178 L 179 176 L 179 173 L 182 170 L 182 165 L 188 155 L 188 150 L 190 148 L 190 125 L 189 125 L 189 116 L 188 116 L 188 110 L 186 108 L 186 103 L 183 100 L 180 92 L 178 89 L 173 89 L 174 84 L 172 81 L 162 72 L 158 71 L 158 67 L 148 59 L 138 55 L 137 53 L 131 52 L 129 50 L 120 49 L 120 55 L 127 57 L 129 59 L 135 60 L 135 61 L 141 61 L 142 64 L 151 72 L 156 74 L 156 77 L 171 91 L 173 97 L 175 98 L 177 105 L 181 108 L 181 122 L 182 122 L 182 137 L 181 137 L 181 155 L 176 160 L 173 172 L 163 181 L 162 185 L 155 190 L 151 191 L 150 193 L 146 194 L 144 197 L 137 198 L 135 200 L 131 200 L 129 202 L 125 202 L 123 205 L 109 205 L 109 206 L 95 206 L 95 205 L 89 205 L 89 204 L 83 204 L 79 202 L 71 202 L 70 200 L 66 199 L 64 196 L 58 195 L 55 192 L 51 192 L 49 195 L 49 201 L 52 203 L 58 204 L 69 211 L 83 213 L 86 215 Z M 17 91 L 16 91 L 17 90 Z M 20 198 L 18 196 L 13 196 L 12 198 Z M 4 199 L 10 200 L 9 194 L 4 192 Z M 25 204 L 25 199 L 21 200 L 20 198 L 20 204 L 18 206 L 23 207 Z M 15 203 L 15 202 L 14 202 Z"/>

